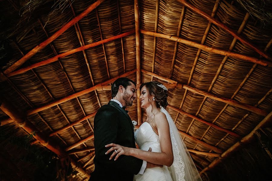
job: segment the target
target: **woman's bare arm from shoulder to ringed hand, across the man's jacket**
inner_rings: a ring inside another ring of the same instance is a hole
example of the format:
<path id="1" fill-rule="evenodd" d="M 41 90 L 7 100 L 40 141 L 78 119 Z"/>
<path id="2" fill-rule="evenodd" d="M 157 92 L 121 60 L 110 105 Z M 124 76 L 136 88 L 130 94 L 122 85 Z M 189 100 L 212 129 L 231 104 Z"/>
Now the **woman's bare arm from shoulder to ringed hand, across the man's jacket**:
<path id="1" fill-rule="evenodd" d="M 118 154 L 116 152 L 113 152 L 110 159 L 112 159 L 116 154 L 117 155 L 115 157 L 115 160 L 120 155 L 128 155 L 142 160 L 146 160 L 147 162 L 151 162 L 153 164 L 166 165 L 170 167 L 173 164 L 174 158 L 170 138 L 169 124 L 164 113 L 156 114 L 154 119 L 156 120 L 155 126 L 157 127 L 159 134 L 161 153 L 144 151 L 136 148 L 128 148 L 118 144 L 111 143 L 105 146 L 112 147 L 105 154 L 108 154 L 109 152 L 116 150 Z"/>

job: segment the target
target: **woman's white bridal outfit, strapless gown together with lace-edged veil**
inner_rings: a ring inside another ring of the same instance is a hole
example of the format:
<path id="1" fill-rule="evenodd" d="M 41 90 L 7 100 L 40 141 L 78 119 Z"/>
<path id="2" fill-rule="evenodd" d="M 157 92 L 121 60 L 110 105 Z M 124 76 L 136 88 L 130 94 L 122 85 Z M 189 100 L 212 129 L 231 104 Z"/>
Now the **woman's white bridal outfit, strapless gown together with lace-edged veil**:
<path id="1" fill-rule="evenodd" d="M 173 148 L 174 161 L 171 167 L 146 168 L 144 174 L 134 175 L 134 181 L 202 181 L 196 166 L 176 128 L 169 113 L 162 107 L 170 128 L 170 137 Z M 161 152 L 159 136 L 154 132 L 148 122 L 144 122 L 134 133 L 139 148 L 152 152 Z"/>

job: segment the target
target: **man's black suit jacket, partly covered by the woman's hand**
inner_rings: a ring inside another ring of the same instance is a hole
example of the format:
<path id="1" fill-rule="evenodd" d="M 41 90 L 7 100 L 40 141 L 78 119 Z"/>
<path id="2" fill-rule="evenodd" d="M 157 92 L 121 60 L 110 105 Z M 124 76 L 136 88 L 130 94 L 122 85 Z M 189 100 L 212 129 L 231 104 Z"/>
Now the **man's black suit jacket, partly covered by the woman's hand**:
<path id="1" fill-rule="evenodd" d="M 133 175 L 139 173 L 143 160 L 126 155 L 121 155 L 116 161 L 114 158 L 109 160 L 113 153 L 105 155 L 109 149 L 105 145 L 109 143 L 136 148 L 131 119 L 114 101 L 99 108 L 94 118 L 95 170 L 89 180 L 133 180 Z"/>

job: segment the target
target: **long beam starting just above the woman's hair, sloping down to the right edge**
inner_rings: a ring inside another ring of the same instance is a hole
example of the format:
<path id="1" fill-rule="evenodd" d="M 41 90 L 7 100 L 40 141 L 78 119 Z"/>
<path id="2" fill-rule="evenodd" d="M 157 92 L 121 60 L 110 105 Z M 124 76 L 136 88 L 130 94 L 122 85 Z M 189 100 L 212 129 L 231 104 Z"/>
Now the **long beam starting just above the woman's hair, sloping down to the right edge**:
<path id="1" fill-rule="evenodd" d="M 168 78 L 164 78 L 160 75 L 157 75 L 157 74 L 154 74 L 152 72 L 149 72 L 149 71 L 146 71 L 146 70 L 141 70 L 143 73 L 146 73 L 147 75 L 153 75 L 154 77 L 160 79 L 160 80 L 163 80 L 163 81 L 172 81 L 172 83 L 177 83 L 176 81 L 173 81 L 171 79 L 168 79 Z M 203 90 L 199 90 L 197 88 L 194 88 L 194 87 L 190 87 L 186 84 L 181 84 L 181 83 L 177 83 L 176 85 L 177 88 L 183 88 L 183 89 L 186 89 L 186 90 L 189 90 L 193 93 L 196 93 L 196 94 L 200 94 L 202 96 L 206 96 L 206 97 L 209 97 L 211 99 L 214 99 L 214 100 L 218 100 L 218 101 L 221 101 L 221 102 L 224 102 L 224 103 L 227 103 L 229 105 L 232 105 L 232 106 L 235 106 L 235 107 L 239 107 L 239 108 L 242 108 L 242 109 L 245 109 L 245 110 L 248 110 L 248 111 L 251 111 L 253 113 L 256 113 L 256 114 L 259 114 L 259 115 L 262 115 L 262 116 L 267 116 L 267 112 L 258 108 L 258 107 L 254 107 L 254 106 L 251 106 L 251 105 L 248 105 L 248 104 L 245 104 L 245 103 L 241 103 L 241 102 L 238 102 L 236 100 L 233 100 L 233 99 L 228 99 L 228 98 L 225 98 L 225 97 L 220 97 L 220 96 L 217 96 L 215 94 L 211 94 L 209 92 L 206 92 L 206 91 L 203 91 Z"/>

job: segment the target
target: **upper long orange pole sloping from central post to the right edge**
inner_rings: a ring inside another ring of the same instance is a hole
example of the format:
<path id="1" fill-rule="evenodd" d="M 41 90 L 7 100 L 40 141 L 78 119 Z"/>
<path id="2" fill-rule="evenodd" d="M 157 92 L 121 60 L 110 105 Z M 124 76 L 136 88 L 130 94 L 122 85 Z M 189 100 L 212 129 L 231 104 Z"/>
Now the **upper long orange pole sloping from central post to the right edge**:
<path id="1" fill-rule="evenodd" d="M 263 59 L 258 59 L 255 57 L 250 57 L 250 56 L 245 56 L 239 53 L 234 53 L 234 52 L 230 52 L 230 51 L 225 51 L 225 50 L 221 50 L 221 49 L 215 49 L 206 45 L 202 45 L 200 43 L 195 43 L 193 41 L 189 41 L 189 40 L 185 40 L 179 37 L 175 37 L 175 36 L 171 36 L 171 35 L 166 35 L 166 34 L 161 34 L 161 33 L 154 33 L 152 31 L 147 31 L 147 30 L 141 30 L 141 33 L 146 34 L 146 35 L 150 35 L 150 36 L 154 36 L 154 37 L 160 37 L 160 38 L 165 38 L 168 40 L 173 40 L 173 41 L 177 41 L 179 43 L 183 43 L 189 46 L 193 46 L 199 49 L 202 49 L 204 51 L 207 52 L 212 52 L 215 54 L 219 54 L 219 55 L 224 55 L 224 56 L 230 56 L 236 59 L 240 59 L 240 60 L 244 60 L 247 62 L 253 62 L 259 65 L 263 65 L 263 66 L 268 66 L 268 67 L 272 67 L 272 62 L 269 62 L 267 60 L 263 60 Z"/>

